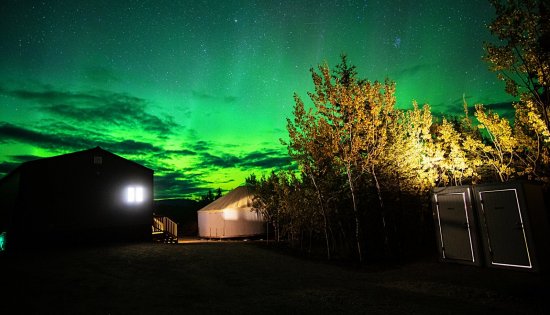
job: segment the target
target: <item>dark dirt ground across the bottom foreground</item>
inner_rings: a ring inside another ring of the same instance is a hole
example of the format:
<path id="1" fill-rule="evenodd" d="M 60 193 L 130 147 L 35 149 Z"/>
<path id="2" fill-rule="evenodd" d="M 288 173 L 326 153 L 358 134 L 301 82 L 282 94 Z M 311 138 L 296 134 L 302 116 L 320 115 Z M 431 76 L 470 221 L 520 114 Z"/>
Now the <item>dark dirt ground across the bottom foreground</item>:
<path id="1" fill-rule="evenodd" d="M 550 314 L 540 275 L 437 259 L 358 269 L 263 242 L 0 256 L 0 314 Z"/>

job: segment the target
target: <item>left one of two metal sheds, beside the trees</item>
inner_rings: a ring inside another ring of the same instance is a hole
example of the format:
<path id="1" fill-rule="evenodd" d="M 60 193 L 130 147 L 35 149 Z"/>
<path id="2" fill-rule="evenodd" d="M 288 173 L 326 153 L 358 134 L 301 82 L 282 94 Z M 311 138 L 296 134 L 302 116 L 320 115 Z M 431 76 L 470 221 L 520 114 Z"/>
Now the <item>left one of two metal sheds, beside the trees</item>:
<path id="1" fill-rule="evenodd" d="M 439 259 L 481 265 L 477 216 L 470 186 L 440 187 L 432 194 Z"/>

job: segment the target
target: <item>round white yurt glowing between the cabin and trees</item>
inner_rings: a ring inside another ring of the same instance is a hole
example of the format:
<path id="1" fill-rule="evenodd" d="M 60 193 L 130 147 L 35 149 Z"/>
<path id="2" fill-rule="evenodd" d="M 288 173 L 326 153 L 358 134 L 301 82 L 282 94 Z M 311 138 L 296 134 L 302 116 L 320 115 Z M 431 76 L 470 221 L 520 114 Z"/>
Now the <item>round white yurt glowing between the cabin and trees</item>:
<path id="1" fill-rule="evenodd" d="M 197 211 L 199 236 L 237 238 L 265 234 L 262 215 L 252 209 L 252 194 L 240 186 Z"/>

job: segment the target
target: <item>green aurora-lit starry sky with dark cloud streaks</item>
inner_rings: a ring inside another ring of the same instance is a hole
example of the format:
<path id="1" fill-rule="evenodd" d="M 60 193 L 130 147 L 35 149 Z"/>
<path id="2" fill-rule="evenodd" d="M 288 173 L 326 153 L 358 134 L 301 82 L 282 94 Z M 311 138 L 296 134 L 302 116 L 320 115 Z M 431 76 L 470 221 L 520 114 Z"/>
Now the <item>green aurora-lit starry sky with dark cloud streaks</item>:
<path id="1" fill-rule="evenodd" d="M 485 0 L 3 0 L 0 177 L 100 146 L 155 171 L 155 198 L 227 191 L 289 167 L 293 94 L 345 53 L 397 106 L 506 110 L 482 61 Z"/>

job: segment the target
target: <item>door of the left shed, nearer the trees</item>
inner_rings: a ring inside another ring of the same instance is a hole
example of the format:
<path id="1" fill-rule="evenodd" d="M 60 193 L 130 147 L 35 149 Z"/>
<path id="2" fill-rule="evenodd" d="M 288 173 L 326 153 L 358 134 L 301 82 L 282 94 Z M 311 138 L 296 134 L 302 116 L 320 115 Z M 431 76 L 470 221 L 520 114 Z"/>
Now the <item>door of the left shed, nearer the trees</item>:
<path id="1" fill-rule="evenodd" d="M 466 194 L 448 193 L 435 197 L 443 258 L 473 262 L 474 250 Z"/>

